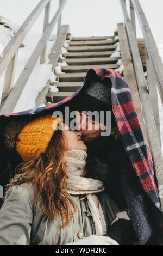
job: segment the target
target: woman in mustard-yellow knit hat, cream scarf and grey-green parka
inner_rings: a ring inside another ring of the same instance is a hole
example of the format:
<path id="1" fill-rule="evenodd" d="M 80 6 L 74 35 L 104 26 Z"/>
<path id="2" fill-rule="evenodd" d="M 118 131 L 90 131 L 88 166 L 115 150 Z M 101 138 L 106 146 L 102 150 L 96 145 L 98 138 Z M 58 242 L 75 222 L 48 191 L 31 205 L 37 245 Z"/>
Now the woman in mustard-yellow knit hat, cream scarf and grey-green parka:
<path id="1" fill-rule="evenodd" d="M 7 131 L 5 143 L 12 132 Z M 1 245 L 118 245 L 104 236 L 118 208 L 101 181 L 86 178 L 81 136 L 51 115 L 30 121 L 18 133 L 15 147 L 23 162 L 0 210 Z"/>

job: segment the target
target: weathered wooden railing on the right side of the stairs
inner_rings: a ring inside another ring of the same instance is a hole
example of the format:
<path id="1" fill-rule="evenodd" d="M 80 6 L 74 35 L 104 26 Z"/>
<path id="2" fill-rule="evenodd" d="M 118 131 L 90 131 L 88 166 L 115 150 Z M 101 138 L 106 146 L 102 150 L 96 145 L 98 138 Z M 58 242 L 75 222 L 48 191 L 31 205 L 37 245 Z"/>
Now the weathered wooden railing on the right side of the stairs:
<path id="1" fill-rule="evenodd" d="M 133 55 L 133 63 L 137 86 L 139 88 L 143 118 L 145 120 L 148 143 L 151 148 L 154 161 L 154 172 L 158 187 L 161 189 L 163 185 L 163 159 L 161 153 L 158 95 L 156 86 L 158 87 L 161 102 L 163 103 L 163 64 L 139 0 L 130 0 L 130 17 L 127 12 L 126 1 L 120 0 L 120 3 Z M 145 40 L 148 83 L 146 83 L 139 48 L 137 46 L 135 11 Z M 161 208 L 163 209 L 163 198 L 160 197 L 159 199 Z"/>

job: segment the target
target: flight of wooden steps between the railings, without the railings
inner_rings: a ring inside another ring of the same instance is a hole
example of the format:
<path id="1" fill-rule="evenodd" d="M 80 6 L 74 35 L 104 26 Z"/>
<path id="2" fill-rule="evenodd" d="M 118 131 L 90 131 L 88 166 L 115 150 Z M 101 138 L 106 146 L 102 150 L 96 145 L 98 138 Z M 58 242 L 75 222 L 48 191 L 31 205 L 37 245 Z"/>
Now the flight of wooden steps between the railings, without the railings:
<path id="1" fill-rule="evenodd" d="M 62 74 L 56 74 L 58 82 L 50 84 L 57 86 L 59 92 L 48 92 L 47 102 L 58 102 L 76 92 L 83 85 L 87 70 L 91 68 L 117 69 L 120 57 L 110 57 L 116 50 L 115 36 L 73 37 L 64 58 L 59 59 L 59 62 L 68 65 L 61 66 Z"/>

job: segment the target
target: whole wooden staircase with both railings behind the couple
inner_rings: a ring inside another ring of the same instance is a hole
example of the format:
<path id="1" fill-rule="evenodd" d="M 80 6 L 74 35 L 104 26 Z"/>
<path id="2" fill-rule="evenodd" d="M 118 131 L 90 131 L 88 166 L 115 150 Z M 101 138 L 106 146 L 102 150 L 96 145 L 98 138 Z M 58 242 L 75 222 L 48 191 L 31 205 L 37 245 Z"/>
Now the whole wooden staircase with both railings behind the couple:
<path id="1" fill-rule="evenodd" d="M 118 30 L 113 36 L 86 38 L 71 38 L 69 26 L 61 26 L 62 10 L 67 0 L 59 1 L 59 8 L 49 21 L 50 2 L 51 0 L 40 0 L 3 50 L 3 57 L 0 57 L 0 76 L 5 71 L 5 78 L 0 102 L 0 114 L 13 113 L 37 60 L 40 58 L 40 64 L 47 61 L 47 41 L 53 28 L 58 24 L 57 39 L 51 54 L 48 56 L 48 64 L 52 65 L 52 71 L 54 72 L 58 62 L 66 62 L 67 65 L 61 66 L 61 73 L 55 74 L 57 75 L 57 82 L 51 83 L 48 80 L 45 88 L 36 99 L 35 107 L 39 107 L 43 103 L 50 105 L 76 92 L 83 85 L 87 70 L 91 68 L 111 68 L 121 72 L 122 69 L 119 68 L 122 62 L 124 69 L 120 75 L 124 77 L 124 81 L 129 85 L 143 136 L 147 139 L 152 151 L 158 187 L 161 187 L 163 184 L 163 158 L 156 89 L 159 90 L 163 105 L 163 64 L 139 0 L 129 1 L 130 14 L 128 14 L 125 1 L 120 0 L 124 24 L 118 23 Z M 14 84 L 18 48 L 44 9 L 43 34 Z M 142 30 L 143 39 L 137 39 L 136 37 L 135 14 Z M 64 58 L 61 58 L 61 48 L 66 39 L 69 40 L 68 46 L 65 47 L 67 52 L 63 54 Z M 119 57 L 112 58 L 111 55 L 117 51 L 118 43 L 121 54 Z M 118 61 L 120 58 L 121 62 Z M 53 86 L 57 86 L 58 92 L 52 92 Z M 162 197 L 160 202 L 163 209 Z"/>

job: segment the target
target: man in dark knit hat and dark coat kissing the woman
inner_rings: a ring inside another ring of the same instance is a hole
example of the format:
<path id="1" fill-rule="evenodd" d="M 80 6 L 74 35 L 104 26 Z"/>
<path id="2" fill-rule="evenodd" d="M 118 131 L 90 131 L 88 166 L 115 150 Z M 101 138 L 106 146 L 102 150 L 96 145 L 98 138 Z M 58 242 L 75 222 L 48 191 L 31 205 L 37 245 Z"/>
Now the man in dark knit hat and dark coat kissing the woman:
<path id="1" fill-rule="evenodd" d="M 82 138 L 88 148 L 91 176 L 104 182 L 120 212 L 123 212 L 121 220 L 112 225 L 109 236 L 120 245 L 129 245 L 136 240 L 136 237 L 126 212 L 127 206 L 121 188 L 121 175 L 118 173 L 120 170 L 116 168 L 113 171 L 112 168 L 108 168 L 111 147 L 116 141 L 115 135 L 118 135 L 119 139 L 121 138 L 120 132 L 115 129 L 117 124 L 111 109 L 111 87 L 108 86 L 108 83 L 96 78 L 78 97 L 76 108 L 76 127 L 82 133 Z M 101 115 L 103 115 L 102 118 Z M 109 127 L 111 134 L 107 131 Z M 116 130 L 116 132 L 112 132 L 112 130 Z"/>

